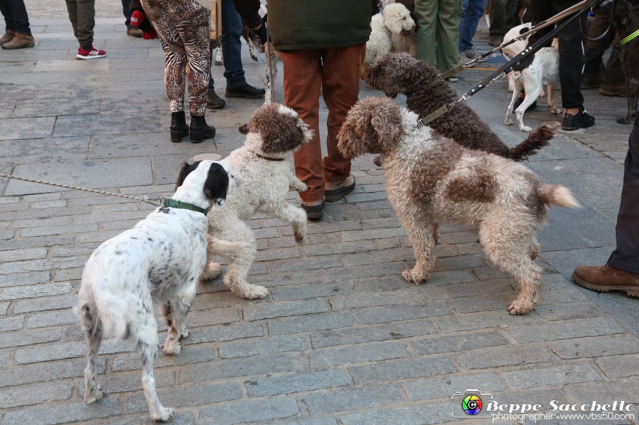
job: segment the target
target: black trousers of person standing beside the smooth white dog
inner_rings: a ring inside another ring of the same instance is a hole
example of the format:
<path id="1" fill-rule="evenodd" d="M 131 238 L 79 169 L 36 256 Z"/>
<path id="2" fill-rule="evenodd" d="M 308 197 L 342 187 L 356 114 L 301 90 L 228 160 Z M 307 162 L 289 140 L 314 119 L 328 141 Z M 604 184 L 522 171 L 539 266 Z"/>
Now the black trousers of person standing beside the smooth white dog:
<path id="1" fill-rule="evenodd" d="M 532 24 L 537 25 L 539 22 L 549 19 L 577 3 L 578 0 L 531 0 Z M 566 22 L 566 20 L 559 21 L 557 26 Z M 585 29 L 585 16 L 582 21 L 581 27 Z M 552 29 L 553 26 L 548 26 L 532 34 L 528 38 L 528 45 L 532 45 L 532 43 L 550 33 Z M 573 20 L 558 33 L 557 37 L 559 39 L 559 82 L 561 83 L 562 106 L 564 108 L 577 108 L 583 105 L 580 86 L 584 58 L 579 20 Z M 552 40 L 548 41 L 548 47 L 550 47 L 551 42 Z"/>

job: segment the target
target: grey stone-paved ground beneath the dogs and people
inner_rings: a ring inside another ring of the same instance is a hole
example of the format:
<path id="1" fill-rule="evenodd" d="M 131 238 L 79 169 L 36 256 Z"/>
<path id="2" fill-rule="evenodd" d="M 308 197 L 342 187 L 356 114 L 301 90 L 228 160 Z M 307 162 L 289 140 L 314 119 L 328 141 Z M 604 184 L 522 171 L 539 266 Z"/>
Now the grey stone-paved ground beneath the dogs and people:
<path id="1" fill-rule="evenodd" d="M 237 126 L 261 100 L 227 99 L 226 108 L 208 110 L 215 140 L 169 142 L 162 48 L 158 40 L 127 36 L 119 2 L 96 4 L 95 45 L 107 57 L 95 61 L 74 59 L 63 3 L 26 3 L 36 47 L 0 51 L 0 172 L 158 197 L 171 193 L 181 161 L 226 156 L 242 144 Z M 487 39 L 482 22 L 479 50 Z M 243 61 L 249 83 L 263 86 L 263 61 L 248 54 Z M 465 71 L 454 87 L 470 89 L 499 61 L 493 55 L 483 68 Z M 220 94 L 222 72 L 213 68 Z M 469 103 L 514 145 L 525 134 L 503 124 L 506 86 L 502 78 Z M 464 415 L 459 396 L 452 397 L 466 389 L 542 410 L 553 400 L 639 404 L 637 300 L 570 281 L 576 265 L 603 264 L 614 248 L 631 131 L 615 122 L 626 114 L 624 98 L 584 94 L 596 125 L 559 133 L 528 163 L 583 205 L 549 213 L 539 235 L 544 276 L 534 311 L 507 313 L 516 281 L 489 262 L 468 228 L 444 225 L 433 276 L 419 286 L 404 282 L 401 272 L 414 263 L 410 241 L 373 156 L 358 158 L 355 191 L 309 223 L 306 246 L 297 246 L 279 220 L 250 220 L 259 248 L 250 280 L 266 285 L 268 297 L 240 299 L 221 280 L 200 285 L 185 349 L 175 357 L 160 350 L 156 363 L 160 401 L 178 412 L 171 423 L 489 423 L 452 416 Z M 362 83 L 361 96 L 368 95 L 380 93 Z M 276 96 L 282 100 L 281 87 Z M 541 103 L 528 125 L 558 119 Z M 323 104 L 321 114 L 325 120 Z M 91 252 L 153 206 L 4 178 L 0 190 L 0 424 L 150 423 L 139 360 L 120 341 L 102 344 L 105 398 L 82 403 L 86 348 L 72 307 Z M 289 200 L 299 202 L 296 193 Z M 164 325 L 160 332 L 163 341 Z M 639 423 L 638 412 L 622 413 L 634 416 L 548 415 L 536 422 Z M 497 423 L 535 418 L 502 416 Z"/>

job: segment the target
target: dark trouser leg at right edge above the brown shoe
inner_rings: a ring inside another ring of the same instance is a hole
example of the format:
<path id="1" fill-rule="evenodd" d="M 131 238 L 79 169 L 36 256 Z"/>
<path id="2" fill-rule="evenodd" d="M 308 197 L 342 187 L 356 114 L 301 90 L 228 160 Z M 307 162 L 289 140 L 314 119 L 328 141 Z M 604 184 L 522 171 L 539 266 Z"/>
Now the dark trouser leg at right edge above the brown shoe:
<path id="1" fill-rule="evenodd" d="M 628 140 L 616 235 L 617 249 L 610 255 L 608 263 L 617 269 L 639 274 L 639 114 Z"/>

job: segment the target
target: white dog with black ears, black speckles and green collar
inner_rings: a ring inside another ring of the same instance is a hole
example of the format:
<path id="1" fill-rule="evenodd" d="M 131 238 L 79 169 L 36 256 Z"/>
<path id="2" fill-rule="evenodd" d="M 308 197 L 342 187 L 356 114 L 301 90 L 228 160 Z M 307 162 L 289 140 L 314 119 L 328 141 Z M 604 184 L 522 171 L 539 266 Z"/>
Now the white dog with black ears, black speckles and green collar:
<path id="1" fill-rule="evenodd" d="M 230 177 L 230 178 L 229 178 Z M 233 177 L 215 161 L 185 163 L 176 191 L 144 220 L 109 239 L 89 257 L 82 272 L 75 313 L 87 344 L 84 402 L 102 398 L 96 361 L 102 338 L 125 339 L 142 357 L 142 387 L 155 421 L 167 421 L 173 409 L 160 404 L 153 363 L 158 329 L 153 300 L 162 306 L 169 327 L 166 354 L 179 354 L 179 339 L 189 335 L 184 319 L 196 295 L 206 264 L 207 247 L 238 251 L 242 244 L 218 241 L 206 234 L 206 211 L 222 205 Z"/>

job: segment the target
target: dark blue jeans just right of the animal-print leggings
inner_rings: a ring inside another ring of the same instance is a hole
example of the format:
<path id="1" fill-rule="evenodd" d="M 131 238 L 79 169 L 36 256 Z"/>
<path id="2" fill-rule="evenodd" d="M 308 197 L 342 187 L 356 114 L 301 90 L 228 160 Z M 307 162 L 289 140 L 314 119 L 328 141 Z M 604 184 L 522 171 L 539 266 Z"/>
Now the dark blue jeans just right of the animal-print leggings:
<path id="1" fill-rule="evenodd" d="M 124 0 L 123 0 L 124 1 Z M 226 78 L 226 88 L 233 89 L 246 84 L 244 68 L 242 66 L 242 18 L 233 0 L 222 0 L 222 34 L 220 43 L 222 44 L 222 55 L 224 56 L 224 78 Z M 215 61 L 213 50 L 211 51 L 211 63 Z M 208 89 L 215 90 L 213 76 L 208 80 Z"/>

